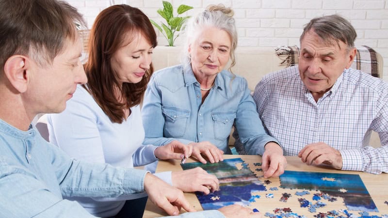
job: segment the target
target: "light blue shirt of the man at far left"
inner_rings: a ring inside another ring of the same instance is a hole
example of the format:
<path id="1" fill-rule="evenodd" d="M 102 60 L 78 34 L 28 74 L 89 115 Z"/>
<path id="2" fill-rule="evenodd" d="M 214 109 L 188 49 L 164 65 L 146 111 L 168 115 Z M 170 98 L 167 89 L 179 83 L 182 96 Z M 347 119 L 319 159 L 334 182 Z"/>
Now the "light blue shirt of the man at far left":
<path id="1" fill-rule="evenodd" d="M 87 218 L 64 197 L 116 198 L 144 191 L 146 171 L 69 158 L 32 126 L 21 131 L 0 120 L 0 217 Z M 177 218 L 225 218 L 217 210 Z"/>

